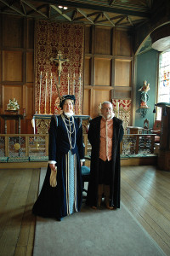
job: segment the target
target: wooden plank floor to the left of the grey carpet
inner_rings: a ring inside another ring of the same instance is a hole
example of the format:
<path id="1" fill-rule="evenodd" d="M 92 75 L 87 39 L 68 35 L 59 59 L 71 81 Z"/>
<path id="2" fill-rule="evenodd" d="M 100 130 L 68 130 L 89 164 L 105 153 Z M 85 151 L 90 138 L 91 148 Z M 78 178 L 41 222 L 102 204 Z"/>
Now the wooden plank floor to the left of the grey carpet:
<path id="1" fill-rule="evenodd" d="M 40 169 L 0 170 L 0 255 L 32 255 Z"/>

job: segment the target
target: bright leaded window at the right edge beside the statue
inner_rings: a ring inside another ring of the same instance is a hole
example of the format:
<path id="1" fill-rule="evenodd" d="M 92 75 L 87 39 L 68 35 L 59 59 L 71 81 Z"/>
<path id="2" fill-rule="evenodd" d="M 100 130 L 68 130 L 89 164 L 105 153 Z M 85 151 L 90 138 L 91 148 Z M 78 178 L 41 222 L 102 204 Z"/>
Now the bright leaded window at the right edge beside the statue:
<path id="1" fill-rule="evenodd" d="M 160 54 L 157 102 L 170 102 L 170 51 Z M 157 108 L 156 119 L 161 120 L 161 108 Z"/>

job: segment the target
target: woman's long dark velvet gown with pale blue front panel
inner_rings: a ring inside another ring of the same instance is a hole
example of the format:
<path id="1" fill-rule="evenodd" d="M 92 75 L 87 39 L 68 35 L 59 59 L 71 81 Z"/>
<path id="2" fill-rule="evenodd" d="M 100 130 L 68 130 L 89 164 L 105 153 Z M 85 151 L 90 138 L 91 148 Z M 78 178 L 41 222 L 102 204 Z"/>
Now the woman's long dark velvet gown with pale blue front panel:
<path id="1" fill-rule="evenodd" d="M 66 118 L 66 117 L 65 117 Z M 68 119 L 67 119 L 68 120 Z M 72 120 L 72 117 L 71 117 Z M 84 158 L 82 144 L 82 124 L 80 119 L 75 119 L 75 132 L 71 134 L 71 144 L 69 143 L 68 133 L 65 128 L 65 123 L 61 115 L 53 116 L 49 128 L 49 160 L 55 160 L 57 166 L 57 186 L 51 187 L 49 177 L 51 169 L 48 165 L 48 170 L 40 195 L 35 202 L 32 212 L 35 215 L 48 218 L 63 218 L 70 215 L 69 210 L 69 168 L 74 170 L 75 177 L 74 190 L 74 212 L 80 211 L 82 206 L 82 172 L 80 159 Z M 75 143 L 76 138 L 76 143 Z M 72 145 L 72 148 L 71 148 Z M 75 145 L 75 148 L 74 148 Z M 70 163 L 70 156 L 74 158 L 74 164 Z M 72 171 L 71 171 L 72 172 Z"/>

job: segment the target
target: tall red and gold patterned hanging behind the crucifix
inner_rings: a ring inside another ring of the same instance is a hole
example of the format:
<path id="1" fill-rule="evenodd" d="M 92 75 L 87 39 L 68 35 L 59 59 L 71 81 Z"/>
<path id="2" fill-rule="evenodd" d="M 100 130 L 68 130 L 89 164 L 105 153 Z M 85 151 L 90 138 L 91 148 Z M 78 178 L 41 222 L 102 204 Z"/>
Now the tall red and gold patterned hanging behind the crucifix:
<path id="1" fill-rule="evenodd" d="M 37 113 L 60 113 L 59 94 L 75 94 L 75 113 L 82 113 L 82 64 L 84 27 L 48 20 L 37 20 L 35 44 L 35 110 Z M 61 53 L 64 61 L 59 79 Z M 58 62 L 58 63 L 57 63 Z M 59 94 L 56 88 L 59 84 Z"/>

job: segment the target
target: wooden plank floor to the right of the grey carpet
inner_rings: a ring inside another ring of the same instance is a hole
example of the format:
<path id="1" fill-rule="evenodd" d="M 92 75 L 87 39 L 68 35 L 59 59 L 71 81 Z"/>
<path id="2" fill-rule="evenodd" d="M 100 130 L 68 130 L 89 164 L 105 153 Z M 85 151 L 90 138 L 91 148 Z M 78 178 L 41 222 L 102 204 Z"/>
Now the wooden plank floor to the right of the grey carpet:
<path id="1" fill-rule="evenodd" d="M 122 203 L 170 255 L 170 172 L 156 166 L 123 167 Z"/>

